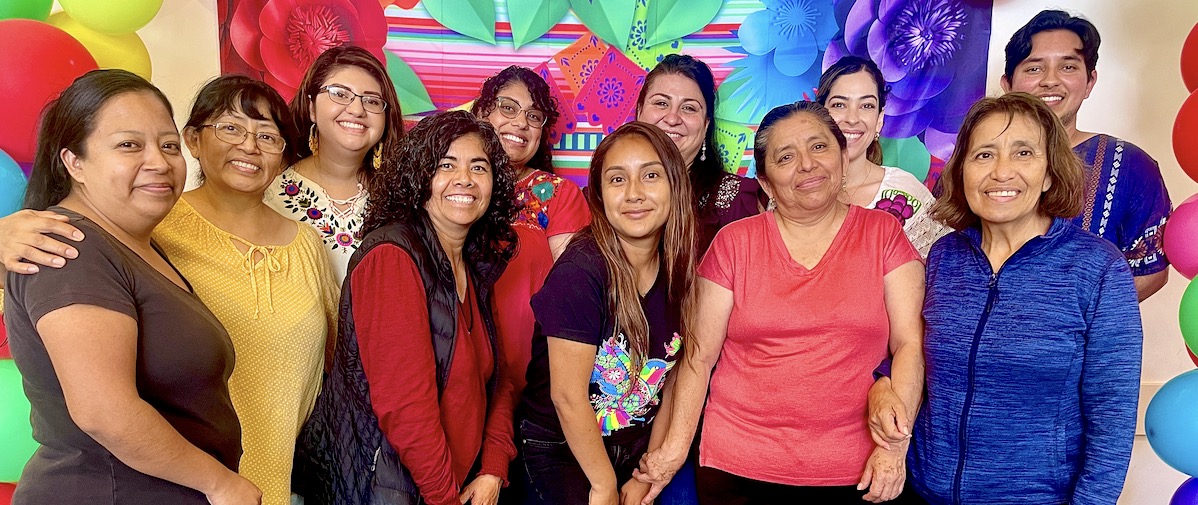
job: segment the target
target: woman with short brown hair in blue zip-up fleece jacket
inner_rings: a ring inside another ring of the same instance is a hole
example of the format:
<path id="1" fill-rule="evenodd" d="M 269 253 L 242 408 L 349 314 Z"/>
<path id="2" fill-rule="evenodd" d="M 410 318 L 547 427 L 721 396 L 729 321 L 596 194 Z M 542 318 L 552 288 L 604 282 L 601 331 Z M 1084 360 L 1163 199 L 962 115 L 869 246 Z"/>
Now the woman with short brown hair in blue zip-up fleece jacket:
<path id="1" fill-rule="evenodd" d="M 1069 223 L 1082 165 L 1055 114 L 969 110 L 933 217 L 927 400 L 908 457 L 930 504 L 1109 504 L 1136 430 L 1143 330 L 1127 261 Z"/>

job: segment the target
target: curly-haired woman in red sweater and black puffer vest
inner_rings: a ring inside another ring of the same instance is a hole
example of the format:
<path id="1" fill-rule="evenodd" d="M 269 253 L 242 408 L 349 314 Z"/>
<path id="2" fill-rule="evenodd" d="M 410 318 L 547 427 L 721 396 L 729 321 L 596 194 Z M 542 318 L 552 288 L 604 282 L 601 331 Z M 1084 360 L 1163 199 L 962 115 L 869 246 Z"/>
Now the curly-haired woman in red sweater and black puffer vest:
<path id="1" fill-rule="evenodd" d="M 315 503 L 492 504 L 515 451 L 490 309 L 515 180 L 465 111 L 420 121 L 385 159 L 296 481 Z"/>

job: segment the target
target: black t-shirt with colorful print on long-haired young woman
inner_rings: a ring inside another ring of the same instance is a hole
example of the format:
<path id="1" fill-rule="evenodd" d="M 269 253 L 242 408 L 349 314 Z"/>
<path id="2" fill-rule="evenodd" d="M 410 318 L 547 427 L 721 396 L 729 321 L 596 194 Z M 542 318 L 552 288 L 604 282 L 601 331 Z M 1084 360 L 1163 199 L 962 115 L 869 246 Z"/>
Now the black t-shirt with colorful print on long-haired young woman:
<path id="1" fill-rule="evenodd" d="M 645 434 L 661 403 L 666 372 L 682 348 L 678 310 L 666 292 L 665 267 L 641 310 L 649 323 L 649 353 L 645 366 L 633 373 L 628 342 L 615 331 L 615 315 L 607 304 L 611 282 L 598 245 L 589 237 L 574 241 L 549 272 L 544 287 L 532 297 L 537 325 L 528 363 L 528 387 L 524 390 L 521 416 L 562 432 L 550 398 L 549 346 L 546 336 L 591 343 L 597 347 L 591 373 L 591 406 L 604 437 L 634 439 Z"/>

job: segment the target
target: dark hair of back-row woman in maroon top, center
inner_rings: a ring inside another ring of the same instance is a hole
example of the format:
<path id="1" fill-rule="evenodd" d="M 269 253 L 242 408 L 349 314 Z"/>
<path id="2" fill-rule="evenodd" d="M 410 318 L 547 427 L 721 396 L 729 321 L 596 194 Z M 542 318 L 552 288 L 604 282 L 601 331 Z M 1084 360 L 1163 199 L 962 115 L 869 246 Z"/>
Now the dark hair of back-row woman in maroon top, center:
<path id="1" fill-rule="evenodd" d="M 715 190 L 725 174 L 724 157 L 720 156 L 719 144 L 715 142 L 715 75 L 712 74 L 712 68 L 697 57 L 686 54 L 667 54 L 645 77 L 645 85 L 641 86 L 641 92 L 636 97 L 637 117 L 645 109 L 645 99 L 648 97 L 649 87 L 661 75 L 682 75 L 690 79 L 698 86 L 698 91 L 703 95 L 703 102 L 706 102 L 703 105 L 707 108 L 707 132 L 703 133 L 703 144 L 710 152 L 707 153 L 707 159 L 684 160 L 690 164 L 691 189 L 695 191 L 695 201 L 698 201 L 700 195 Z M 708 197 L 708 205 L 714 205 L 715 200 Z"/>

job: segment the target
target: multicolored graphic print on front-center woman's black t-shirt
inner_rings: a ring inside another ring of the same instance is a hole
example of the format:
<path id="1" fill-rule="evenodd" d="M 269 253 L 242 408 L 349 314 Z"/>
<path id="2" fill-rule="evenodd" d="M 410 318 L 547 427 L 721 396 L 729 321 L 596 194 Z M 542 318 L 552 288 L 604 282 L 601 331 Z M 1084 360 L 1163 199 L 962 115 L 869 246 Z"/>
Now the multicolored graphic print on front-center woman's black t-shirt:
<path id="1" fill-rule="evenodd" d="M 665 343 L 666 359 L 646 360 L 640 373 L 634 376 L 633 358 L 628 354 L 628 339 L 623 333 L 599 346 L 595 369 L 591 372 L 591 383 L 599 388 L 599 394 L 591 395 L 591 407 L 595 409 L 603 436 L 627 428 L 634 421 L 645 422 L 645 413 L 660 402 L 658 393 L 666 382 L 666 372 L 674 366 L 676 360 L 670 358 L 680 348 L 682 336 L 674 333 Z"/>

